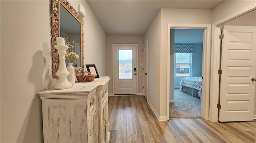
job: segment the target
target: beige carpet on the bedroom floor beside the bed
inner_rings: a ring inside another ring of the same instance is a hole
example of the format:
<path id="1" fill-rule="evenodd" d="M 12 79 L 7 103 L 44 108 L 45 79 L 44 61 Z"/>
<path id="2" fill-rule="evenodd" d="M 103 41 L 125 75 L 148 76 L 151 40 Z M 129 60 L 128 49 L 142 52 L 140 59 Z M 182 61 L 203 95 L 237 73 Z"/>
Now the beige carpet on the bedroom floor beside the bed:
<path id="1" fill-rule="evenodd" d="M 201 100 L 174 89 L 174 103 L 170 103 L 170 118 L 201 117 Z"/>

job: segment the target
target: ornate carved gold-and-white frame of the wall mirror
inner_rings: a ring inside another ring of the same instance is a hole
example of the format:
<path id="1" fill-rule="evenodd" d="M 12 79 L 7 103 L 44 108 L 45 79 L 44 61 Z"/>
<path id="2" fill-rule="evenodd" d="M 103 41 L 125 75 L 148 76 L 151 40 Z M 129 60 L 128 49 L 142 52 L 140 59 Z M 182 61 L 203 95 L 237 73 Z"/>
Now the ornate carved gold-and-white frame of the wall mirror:
<path id="1" fill-rule="evenodd" d="M 58 50 L 55 49 L 56 45 L 56 37 L 60 37 L 60 4 L 80 22 L 80 39 L 81 39 L 81 67 L 75 67 L 75 73 L 80 73 L 84 69 L 84 18 L 80 16 L 80 14 L 71 6 L 71 4 L 67 0 L 52 0 L 52 9 L 51 9 L 51 16 L 52 16 L 52 75 L 53 77 L 58 77 L 56 72 L 59 69 L 59 54 Z"/>

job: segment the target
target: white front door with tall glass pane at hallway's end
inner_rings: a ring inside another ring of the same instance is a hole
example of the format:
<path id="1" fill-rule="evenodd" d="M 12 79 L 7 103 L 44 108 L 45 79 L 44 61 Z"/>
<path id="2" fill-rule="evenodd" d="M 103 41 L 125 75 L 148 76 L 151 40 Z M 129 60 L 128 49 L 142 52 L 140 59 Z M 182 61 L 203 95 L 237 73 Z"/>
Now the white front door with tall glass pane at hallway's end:
<path id="1" fill-rule="evenodd" d="M 114 94 L 137 94 L 138 44 L 113 44 Z"/>

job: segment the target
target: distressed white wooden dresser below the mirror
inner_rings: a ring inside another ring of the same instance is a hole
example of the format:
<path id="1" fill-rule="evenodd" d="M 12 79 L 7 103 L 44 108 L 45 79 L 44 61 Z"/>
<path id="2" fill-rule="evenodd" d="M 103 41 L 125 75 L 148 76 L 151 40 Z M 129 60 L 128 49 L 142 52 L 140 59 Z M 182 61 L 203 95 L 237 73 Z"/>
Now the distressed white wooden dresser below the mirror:
<path id="1" fill-rule="evenodd" d="M 44 143 L 108 143 L 108 76 L 39 92 Z"/>

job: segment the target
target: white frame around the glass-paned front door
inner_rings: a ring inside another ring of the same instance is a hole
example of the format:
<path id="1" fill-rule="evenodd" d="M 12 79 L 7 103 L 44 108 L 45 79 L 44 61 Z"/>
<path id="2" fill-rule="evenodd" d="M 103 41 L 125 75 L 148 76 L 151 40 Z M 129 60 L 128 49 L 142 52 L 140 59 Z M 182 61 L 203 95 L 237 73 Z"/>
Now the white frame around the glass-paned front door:
<path id="1" fill-rule="evenodd" d="M 115 95 L 115 92 L 114 92 L 114 87 L 115 87 L 115 76 L 114 76 L 114 67 L 115 67 L 115 65 L 114 65 L 114 47 L 115 46 L 136 46 L 136 52 L 137 52 L 137 62 L 136 62 L 136 69 L 137 69 L 137 80 L 136 80 L 136 82 L 137 82 L 137 84 L 136 84 L 136 95 L 138 95 L 138 73 L 139 73 L 139 68 L 138 68 L 138 44 L 112 44 L 112 75 L 113 75 L 113 79 L 112 79 L 112 81 L 113 81 L 113 85 L 112 85 L 112 91 L 113 91 L 113 96 Z M 125 95 L 122 95 L 122 96 L 125 96 Z M 130 95 L 129 95 L 130 96 Z"/>

